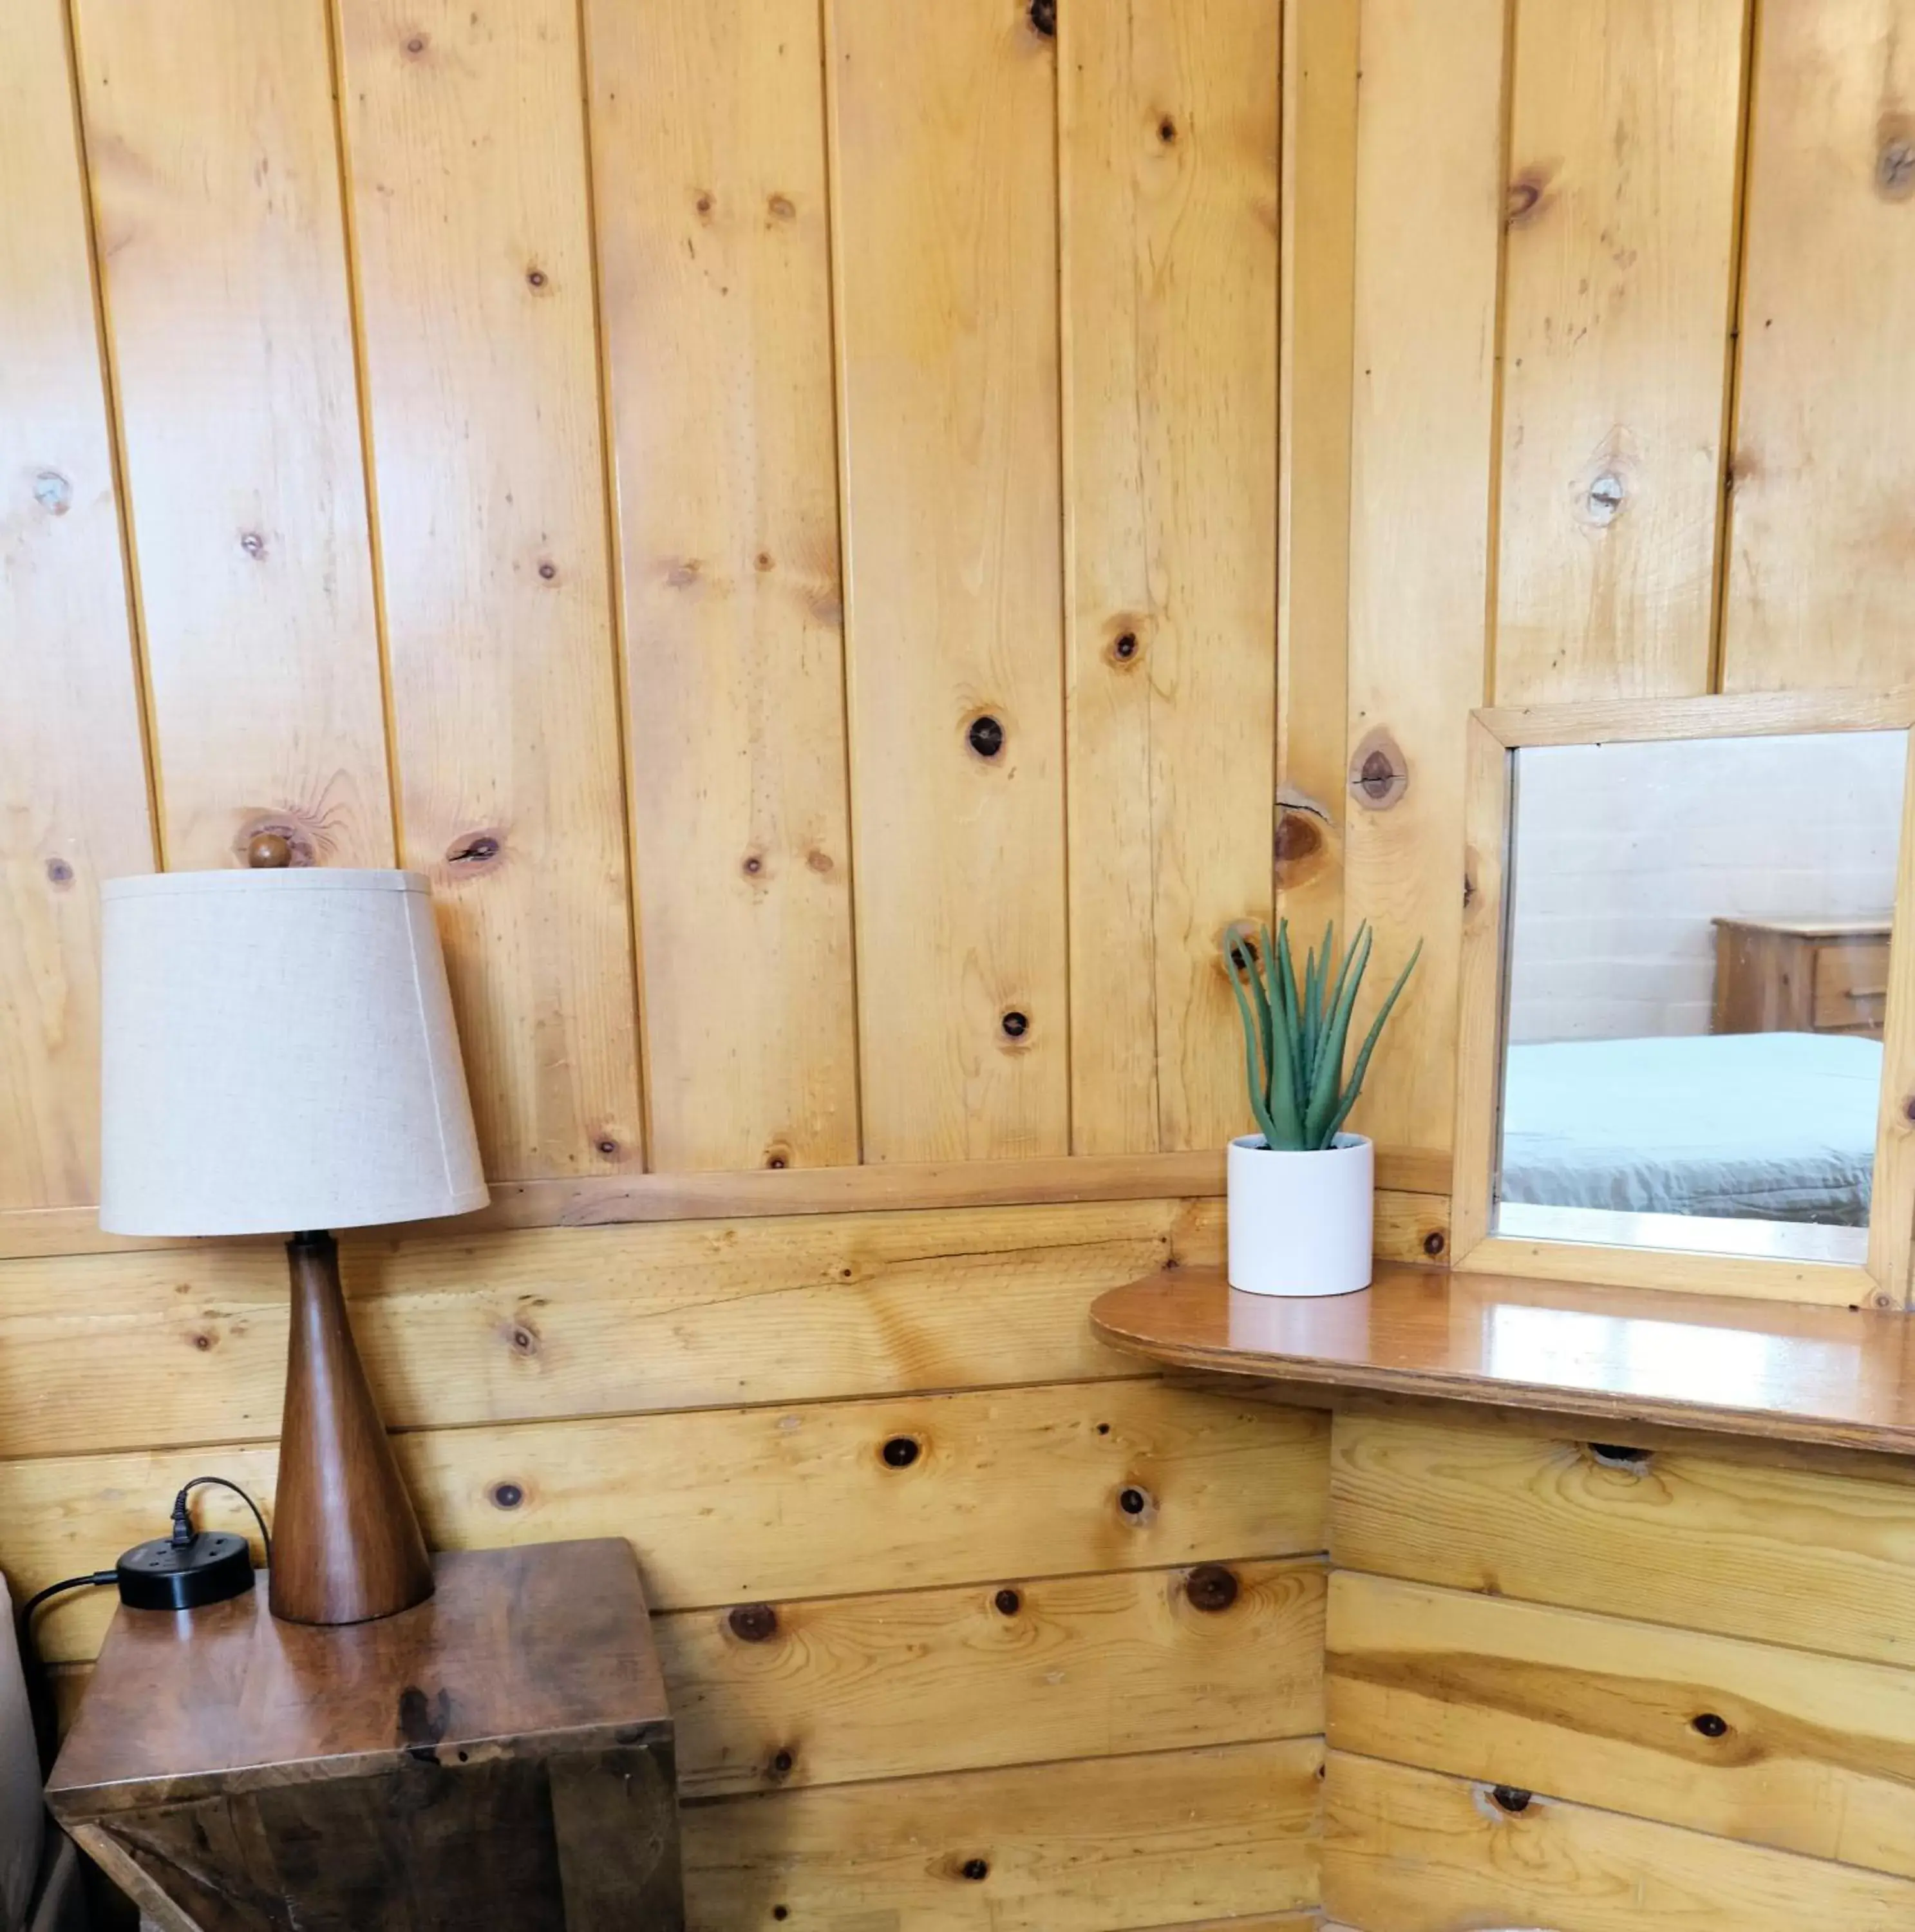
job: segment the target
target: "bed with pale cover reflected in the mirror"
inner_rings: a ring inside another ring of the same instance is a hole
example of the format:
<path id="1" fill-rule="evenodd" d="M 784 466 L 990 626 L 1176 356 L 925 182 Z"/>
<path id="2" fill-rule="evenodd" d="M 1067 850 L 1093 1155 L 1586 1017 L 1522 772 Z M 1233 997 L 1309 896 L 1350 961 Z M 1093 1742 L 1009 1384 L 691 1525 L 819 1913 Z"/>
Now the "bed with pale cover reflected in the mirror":
<path id="1" fill-rule="evenodd" d="M 1867 1227 L 1880 1080 L 1834 1034 L 1511 1047 L 1501 1198 Z"/>

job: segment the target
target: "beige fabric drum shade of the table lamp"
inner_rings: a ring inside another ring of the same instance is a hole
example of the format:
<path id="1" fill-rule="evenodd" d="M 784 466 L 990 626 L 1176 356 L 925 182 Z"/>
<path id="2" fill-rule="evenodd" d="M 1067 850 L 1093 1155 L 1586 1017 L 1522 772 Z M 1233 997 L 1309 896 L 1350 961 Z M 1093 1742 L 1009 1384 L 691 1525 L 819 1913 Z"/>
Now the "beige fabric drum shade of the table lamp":
<path id="1" fill-rule="evenodd" d="M 100 891 L 100 1227 L 290 1235 L 487 1202 L 414 871 Z"/>

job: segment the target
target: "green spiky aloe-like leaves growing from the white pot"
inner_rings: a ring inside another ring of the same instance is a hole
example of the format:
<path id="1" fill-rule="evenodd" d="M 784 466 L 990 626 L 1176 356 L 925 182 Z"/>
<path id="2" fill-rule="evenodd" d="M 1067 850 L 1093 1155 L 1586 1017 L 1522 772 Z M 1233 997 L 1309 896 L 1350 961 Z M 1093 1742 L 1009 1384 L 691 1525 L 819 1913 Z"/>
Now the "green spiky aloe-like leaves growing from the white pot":
<path id="1" fill-rule="evenodd" d="M 1231 927 L 1223 935 L 1223 970 L 1231 978 L 1231 991 L 1243 1016 L 1250 1111 L 1270 1148 L 1316 1153 L 1335 1142 L 1337 1130 L 1357 1105 L 1376 1039 L 1422 954 L 1418 941 L 1370 1022 L 1370 1036 L 1345 1080 L 1343 1049 L 1349 1041 L 1351 1014 L 1357 1010 L 1357 993 L 1370 964 L 1370 939 L 1368 923 L 1358 925 L 1355 943 L 1345 949 L 1343 964 L 1331 978 L 1337 951 L 1337 925 L 1331 920 L 1324 931 L 1322 958 L 1314 951 L 1308 954 L 1299 985 L 1289 920 L 1277 925 L 1275 945 L 1270 943 L 1270 927 L 1258 927 L 1254 952 L 1244 927 Z"/>

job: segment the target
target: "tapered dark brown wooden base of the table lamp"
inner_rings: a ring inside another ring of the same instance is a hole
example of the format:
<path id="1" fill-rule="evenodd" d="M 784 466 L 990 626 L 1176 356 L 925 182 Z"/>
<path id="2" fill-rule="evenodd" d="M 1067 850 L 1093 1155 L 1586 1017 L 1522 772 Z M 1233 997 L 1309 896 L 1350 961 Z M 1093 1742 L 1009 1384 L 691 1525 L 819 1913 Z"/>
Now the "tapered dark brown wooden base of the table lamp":
<path id="1" fill-rule="evenodd" d="M 419 1519 L 365 1381 L 330 1235 L 294 1235 L 286 1420 L 269 1602 L 288 1623 L 369 1623 L 433 1594 Z"/>

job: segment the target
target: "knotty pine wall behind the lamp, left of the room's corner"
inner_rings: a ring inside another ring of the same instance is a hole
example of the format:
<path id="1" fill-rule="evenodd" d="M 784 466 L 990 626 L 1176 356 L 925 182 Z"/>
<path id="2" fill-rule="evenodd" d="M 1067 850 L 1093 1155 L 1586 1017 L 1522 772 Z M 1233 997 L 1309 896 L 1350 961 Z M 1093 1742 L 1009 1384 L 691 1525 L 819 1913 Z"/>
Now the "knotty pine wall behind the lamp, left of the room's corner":
<path id="1" fill-rule="evenodd" d="M 1283 31 L 0 8 L 15 1592 L 271 1495 L 278 1248 L 91 1227 L 99 883 L 271 825 L 433 883 L 497 1202 L 356 1325 L 437 1544 L 638 1549 L 700 1932 L 1314 1922 L 1328 1426 L 1084 1320 L 1244 1124 Z"/>

